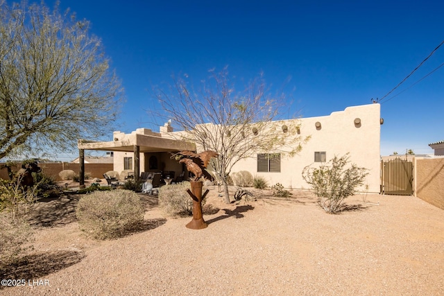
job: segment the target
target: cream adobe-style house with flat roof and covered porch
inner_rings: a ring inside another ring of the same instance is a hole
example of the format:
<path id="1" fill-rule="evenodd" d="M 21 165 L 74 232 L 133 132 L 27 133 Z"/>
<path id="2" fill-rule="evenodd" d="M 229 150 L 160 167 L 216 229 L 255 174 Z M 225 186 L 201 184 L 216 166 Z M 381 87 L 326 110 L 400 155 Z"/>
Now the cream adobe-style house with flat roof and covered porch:
<path id="1" fill-rule="evenodd" d="M 232 173 L 250 171 L 252 175 L 264 177 L 270 186 L 280 183 L 286 188 L 308 189 L 302 179 L 305 166 L 318 166 L 334 155 L 340 157 L 350 153 L 351 162 L 368 168 L 368 191 L 379 193 L 382 124 L 379 104 L 347 107 L 328 116 L 294 120 L 300 123 L 298 136 L 311 136 L 298 155 L 290 157 L 276 151 L 257 151 L 235 164 Z M 114 151 L 114 171 L 117 172 L 133 170 L 135 176 L 139 176 L 142 172 L 167 171 L 177 176 L 185 171 L 185 167 L 170 159 L 171 153 L 180 150 L 200 152 L 196 143 L 178 140 L 180 133 L 174 132 L 170 123 L 165 123 L 160 132 L 139 128 L 130 134 L 114 132 L 113 141 L 79 140 L 78 148 L 80 155 L 85 149 Z"/>

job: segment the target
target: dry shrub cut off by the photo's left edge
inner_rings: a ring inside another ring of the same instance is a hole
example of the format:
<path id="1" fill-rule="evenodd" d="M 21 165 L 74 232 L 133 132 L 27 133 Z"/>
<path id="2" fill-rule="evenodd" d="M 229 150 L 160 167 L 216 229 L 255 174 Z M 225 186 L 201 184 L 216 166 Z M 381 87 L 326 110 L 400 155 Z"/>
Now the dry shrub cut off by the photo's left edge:
<path id="1" fill-rule="evenodd" d="M 24 218 L 0 212 L 0 265 L 10 263 L 32 248 L 33 230 Z"/>

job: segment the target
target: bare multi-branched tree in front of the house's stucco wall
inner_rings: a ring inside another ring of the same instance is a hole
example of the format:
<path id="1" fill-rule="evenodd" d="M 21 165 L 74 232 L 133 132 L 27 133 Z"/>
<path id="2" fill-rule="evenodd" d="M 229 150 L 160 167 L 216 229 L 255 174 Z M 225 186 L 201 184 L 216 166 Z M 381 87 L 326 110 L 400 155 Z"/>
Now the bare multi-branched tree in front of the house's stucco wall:
<path id="1" fill-rule="evenodd" d="M 224 186 L 225 202 L 230 202 L 228 177 L 234 164 L 257 153 L 282 151 L 290 156 L 302 148 L 299 122 L 273 121 L 282 100 L 266 94 L 261 79 L 235 92 L 227 69 L 212 72 L 208 81 L 194 90 L 185 80 L 175 80 L 171 92 L 158 90 L 164 116 L 183 130 L 179 137 L 194 141 L 202 150 L 216 151 L 212 158 L 216 179 Z M 176 135 L 176 137 L 178 137 Z"/>

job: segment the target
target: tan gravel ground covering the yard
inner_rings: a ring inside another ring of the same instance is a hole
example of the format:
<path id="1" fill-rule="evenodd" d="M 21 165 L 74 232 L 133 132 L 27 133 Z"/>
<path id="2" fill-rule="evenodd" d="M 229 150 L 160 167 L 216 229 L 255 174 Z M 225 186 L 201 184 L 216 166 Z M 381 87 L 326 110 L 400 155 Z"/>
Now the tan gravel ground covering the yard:
<path id="1" fill-rule="evenodd" d="M 348 204 L 362 207 L 329 215 L 307 192 L 239 204 L 217 194 L 201 230 L 146 196 L 143 231 L 114 241 L 79 232 L 75 196 L 46 202 L 34 255 L 3 270 L 26 286 L 0 295 L 444 295 L 444 211 L 427 202 L 357 195 Z"/>

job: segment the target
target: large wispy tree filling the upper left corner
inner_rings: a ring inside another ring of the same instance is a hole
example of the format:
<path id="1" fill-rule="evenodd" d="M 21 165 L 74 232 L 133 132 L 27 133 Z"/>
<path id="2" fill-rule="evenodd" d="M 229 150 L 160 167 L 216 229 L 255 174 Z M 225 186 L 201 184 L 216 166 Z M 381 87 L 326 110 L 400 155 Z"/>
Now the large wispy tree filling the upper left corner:
<path id="1" fill-rule="evenodd" d="M 66 151 L 112 130 L 121 103 L 89 22 L 40 5 L 0 0 L 0 159 Z"/>

